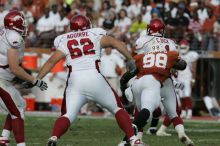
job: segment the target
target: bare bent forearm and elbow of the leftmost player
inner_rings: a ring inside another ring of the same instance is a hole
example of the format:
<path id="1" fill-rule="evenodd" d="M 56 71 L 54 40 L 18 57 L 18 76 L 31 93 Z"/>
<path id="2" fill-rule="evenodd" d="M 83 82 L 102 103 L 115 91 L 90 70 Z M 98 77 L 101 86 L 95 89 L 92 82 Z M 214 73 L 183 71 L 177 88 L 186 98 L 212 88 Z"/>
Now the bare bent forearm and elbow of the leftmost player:
<path id="1" fill-rule="evenodd" d="M 13 74 L 15 74 L 17 77 L 29 81 L 31 83 L 35 82 L 35 78 L 31 75 L 29 75 L 20 65 L 19 65 L 19 51 L 18 49 L 9 49 L 8 50 L 8 63 L 9 68 L 12 71 Z"/>

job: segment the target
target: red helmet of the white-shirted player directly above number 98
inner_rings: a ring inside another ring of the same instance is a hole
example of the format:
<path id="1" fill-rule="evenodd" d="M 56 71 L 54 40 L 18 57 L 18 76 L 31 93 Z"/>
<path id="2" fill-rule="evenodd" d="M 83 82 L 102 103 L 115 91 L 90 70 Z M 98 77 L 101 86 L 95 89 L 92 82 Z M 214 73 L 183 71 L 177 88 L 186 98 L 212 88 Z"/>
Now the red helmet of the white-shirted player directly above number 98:
<path id="1" fill-rule="evenodd" d="M 151 20 L 150 24 L 147 26 L 148 35 L 153 36 L 164 36 L 165 24 L 160 19 Z"/>

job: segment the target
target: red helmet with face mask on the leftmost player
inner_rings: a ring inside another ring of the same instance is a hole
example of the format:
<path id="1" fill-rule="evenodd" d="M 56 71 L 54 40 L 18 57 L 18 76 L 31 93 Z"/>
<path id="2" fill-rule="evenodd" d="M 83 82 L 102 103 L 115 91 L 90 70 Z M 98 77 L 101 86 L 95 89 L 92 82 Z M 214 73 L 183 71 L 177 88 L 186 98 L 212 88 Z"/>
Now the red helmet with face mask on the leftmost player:
<path id="1" fill-rule="evenodd" d="M 4 26 L 7 29 L 15 30 L 22 36 L 27 35 L 28 25 L 24 15 L 19 11 L 10 11 L 4 18 Z"/>

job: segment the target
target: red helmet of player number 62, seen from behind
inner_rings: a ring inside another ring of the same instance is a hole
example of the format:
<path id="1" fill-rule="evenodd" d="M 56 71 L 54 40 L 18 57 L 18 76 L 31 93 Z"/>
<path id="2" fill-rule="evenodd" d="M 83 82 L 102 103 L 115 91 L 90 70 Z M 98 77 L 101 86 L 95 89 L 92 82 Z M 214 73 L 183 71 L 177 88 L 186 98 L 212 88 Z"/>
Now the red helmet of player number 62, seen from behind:
<path id="1" fill-rule="evenodd" d="M 70 29 L 74 31 L 91 28 L 91 21 L 84 15 L 76 15 L 70 20 Z"/>

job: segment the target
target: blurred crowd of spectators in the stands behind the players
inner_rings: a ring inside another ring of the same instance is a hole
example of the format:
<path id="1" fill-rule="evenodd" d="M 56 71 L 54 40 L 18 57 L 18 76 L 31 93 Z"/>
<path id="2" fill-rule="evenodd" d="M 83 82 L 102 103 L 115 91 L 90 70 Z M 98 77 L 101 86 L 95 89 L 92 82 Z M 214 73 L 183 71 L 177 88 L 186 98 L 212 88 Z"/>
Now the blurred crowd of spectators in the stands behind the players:
<path id="1" fill-rule="evenodd" d="M 84 14 L 132 48 L 150 20 L 161 18 L 166 37 L 185 38 L 192 50 L 220 50 L 219 5 L 219 0 L 1 0 L 0 24 L 7 11 L 21 10 L 30 25 L 27 47 L 51 48 L 68 31 L 70 18 Z"/>

